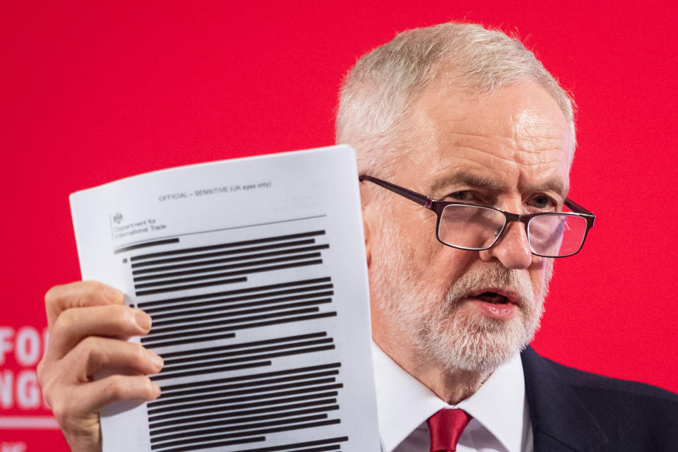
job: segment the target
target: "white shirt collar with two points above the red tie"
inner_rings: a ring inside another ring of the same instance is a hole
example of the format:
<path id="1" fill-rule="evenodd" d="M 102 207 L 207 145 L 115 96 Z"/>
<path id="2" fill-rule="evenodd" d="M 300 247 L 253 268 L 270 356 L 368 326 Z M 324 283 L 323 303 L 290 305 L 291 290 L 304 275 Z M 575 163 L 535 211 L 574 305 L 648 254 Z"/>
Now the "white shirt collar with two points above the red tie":
<path id="1" fill-rule="evenodd" d="M 480 389 L 458 405 L 448 405 L 372 343 L 379 432 L 386 452 L 396 448 L 434 412 L 462 408 L 493 434 L 509 452 L 520 452 L 525 422 L 525 380 L 516 353 L 497 368 Z"/>

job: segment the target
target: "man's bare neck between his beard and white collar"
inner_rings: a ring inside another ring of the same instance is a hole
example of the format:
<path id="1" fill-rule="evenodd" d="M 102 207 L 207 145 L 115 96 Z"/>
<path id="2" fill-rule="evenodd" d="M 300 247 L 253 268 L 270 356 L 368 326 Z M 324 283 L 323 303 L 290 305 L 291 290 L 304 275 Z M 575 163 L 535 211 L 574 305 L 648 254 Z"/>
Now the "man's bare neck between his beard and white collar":
<path id="1" fill-rule="evenodd" d="M 374 338 L 374 342 L 398 366 L 450 405 L 456 405 L 472 396 L 494 371 L 494 369 L 450 369 L 440 363 L 422 360 L 421 354 L 398 353 L 397 350 L 403 348 L 388 347 L 388 341 L 382 343 L 378 338 Z"/>

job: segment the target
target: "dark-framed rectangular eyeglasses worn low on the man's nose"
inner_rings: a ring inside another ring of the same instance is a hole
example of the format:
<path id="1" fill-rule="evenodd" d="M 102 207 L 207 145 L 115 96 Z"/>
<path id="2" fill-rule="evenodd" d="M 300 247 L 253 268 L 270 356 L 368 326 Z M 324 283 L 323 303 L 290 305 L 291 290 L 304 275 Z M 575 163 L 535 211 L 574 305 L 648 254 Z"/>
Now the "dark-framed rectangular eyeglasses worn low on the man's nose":
<path id="1" fill-rule="evenodd" d="M 583 246 L 586 234 L 595 220 L 592 212 L 570 199 L 565 200 L 565 206 L 572 212 L 517 215 L 477 204 L 436 201 L 366 174 L 359 176 L 358 180 L 372 182 L 433 210 L 438 215 L 436 237 L 439 242 L 457 249 L 480 251 L 492 248 L 509 222 L 519 221 L 525 225 L 530 250 L 535 256 L 572 256 Z"/>

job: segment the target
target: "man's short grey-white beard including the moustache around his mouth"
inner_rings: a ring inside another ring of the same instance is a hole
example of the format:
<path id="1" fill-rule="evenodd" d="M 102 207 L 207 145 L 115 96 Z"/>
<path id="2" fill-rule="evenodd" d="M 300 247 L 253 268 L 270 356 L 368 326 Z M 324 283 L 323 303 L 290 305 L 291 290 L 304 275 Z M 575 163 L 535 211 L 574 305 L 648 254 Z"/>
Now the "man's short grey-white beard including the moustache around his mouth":
<path id="1" fill-rule="evenodd" d="M 552 260 L 546 263 L 546 278 L 536 294 L 527 272 L 509 270 L 501 263 L 469 270 L 446 293 L 440 293 L 422 283 L 410 266 L 402 265 L 404 254 L 393 252 L 402 243 L 391 247 L 385 244 L 382 251 L 387 254 L 381 256 L 391 254 L 391 258 L 382 262 L 381 273 L 373 274 L 372 286 L 383 319 L 389 328 L 397 328 L 401 344 L 408 347 L 413 362 L 448 371 L 493 371 L 533 339 L 544 313 Z M 505 288 L 520 294 L 518 315 L 504 321 L 460 312 L 468 294 L 482 287 Z"/>

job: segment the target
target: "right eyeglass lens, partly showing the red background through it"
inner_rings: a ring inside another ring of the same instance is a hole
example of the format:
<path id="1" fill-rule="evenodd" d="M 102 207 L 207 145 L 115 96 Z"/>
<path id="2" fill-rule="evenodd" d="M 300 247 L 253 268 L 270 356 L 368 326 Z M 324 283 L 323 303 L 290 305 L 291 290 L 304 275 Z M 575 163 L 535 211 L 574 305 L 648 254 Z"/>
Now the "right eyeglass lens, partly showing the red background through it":
<path id="1" fill-rule="evenodd" d="M 541 256 L 575 254 L 581 249 L 585 234 L 586 219 L 577 215 L 539 215 L 528 225 L 532 251 Z"/>

